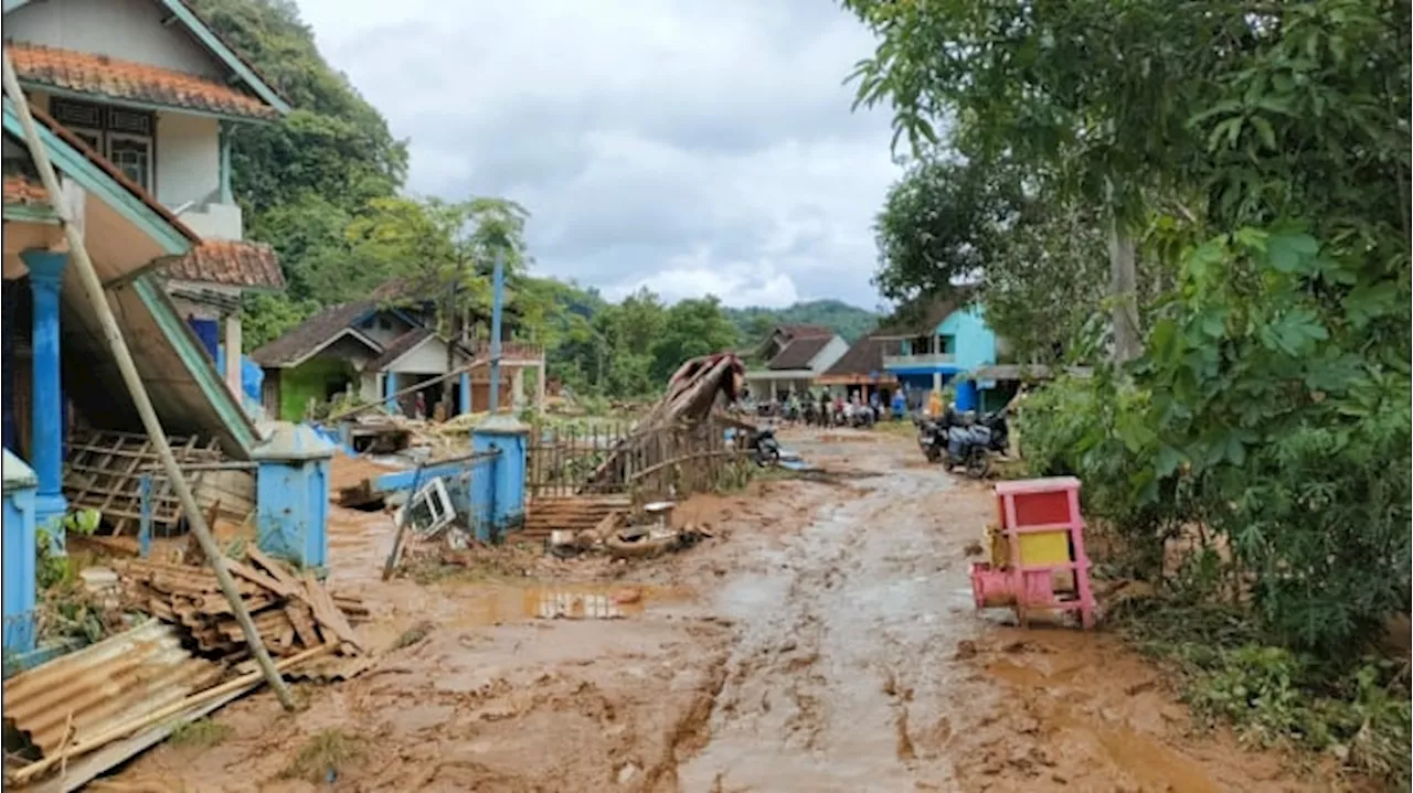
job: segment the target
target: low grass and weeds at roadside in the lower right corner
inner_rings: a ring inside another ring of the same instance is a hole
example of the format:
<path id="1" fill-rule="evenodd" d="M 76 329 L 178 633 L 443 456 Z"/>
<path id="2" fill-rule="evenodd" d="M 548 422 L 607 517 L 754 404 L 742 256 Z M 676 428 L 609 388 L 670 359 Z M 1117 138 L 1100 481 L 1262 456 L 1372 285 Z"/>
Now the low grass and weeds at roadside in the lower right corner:
<path id="1" fill-rule="evenodd" d="M 1345 768 L 1407 790 L 1413 785 L 1413 680 L 1407 660 L 1366 656 L 1331 665 L 1280 646 L 1236 608 L 1161 597 L 1128 601 L 1121 632 L 1178 674 L 1207 725 L 1242 742 Z"/>

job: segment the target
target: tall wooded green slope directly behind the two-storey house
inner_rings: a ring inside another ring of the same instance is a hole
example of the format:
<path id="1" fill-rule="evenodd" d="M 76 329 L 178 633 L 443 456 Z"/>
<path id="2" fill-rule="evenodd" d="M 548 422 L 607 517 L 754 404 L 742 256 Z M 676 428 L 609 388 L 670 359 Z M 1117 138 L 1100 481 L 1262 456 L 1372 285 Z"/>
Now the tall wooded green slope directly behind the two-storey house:
<path id="1" fill-rule="evenodd" d="M 407 175 L 407 144 L 319 55 L 288 0 L 191 0 L 196 13 L 278 90 L 294 111 L 236 124 L 232 188 L 246 237 L 280 255 L 288 289 L 246 296 L 247 340 L 260 346 L 322 305 L 366 295 L 383 279 L 349 250 L 345 230 Z"/>

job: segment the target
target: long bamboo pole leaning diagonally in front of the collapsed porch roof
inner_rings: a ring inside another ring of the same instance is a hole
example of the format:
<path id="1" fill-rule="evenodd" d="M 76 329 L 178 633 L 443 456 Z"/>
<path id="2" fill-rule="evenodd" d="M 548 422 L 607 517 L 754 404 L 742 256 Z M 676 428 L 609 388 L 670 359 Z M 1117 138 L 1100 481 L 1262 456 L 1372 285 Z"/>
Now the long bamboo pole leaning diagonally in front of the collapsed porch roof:
<path id="1" fill-rule="evenodd" d="M 274 690 L 276 696 L 280 697 L 280 704 L 285 710 L 295 710 L 294 696 L 290 693 L 290 687 L 284 684 L 284 679 L 280 677 L 280 672 L 276 670 L 274 662 L 270 659 L 270 653 L 266 650 L 264 642 L 260 639 L 260 632 L 256 631 L 254 622 L 250 621 L 250 612 L 246 611 L 246 604 L 240 600 L 240 593 L 236 591 L 236 583 L 230 579 L 230 571 L 226 570 L 225 556 L 220 553 L 220 547 L 216 546 L 216 540 L 212 539 L 211 531 L 206 526 L 206 518 L 201 514 L 201 507 L 196 505 L 196 497 L 192 495 L 191 487 L 187 484 L 187 478 L 181 476 L 181 467 L 177 464 L 177 457 L 172 454 L 172 447 L 167 442 L 167 432 L 162 430 L 162 423 L 157 418 L 157 411 L 153 409 L 153 401 L 147 395 L 147 388 L 143 385 L 143 378 L 137 374 L 137 364 L 133 363 L 133 353 L 127 349 L 127 341 L 123 339 L 123 332 L 117 327 L 117 320 L 113 319 L 113 308 L 107 305 L 107 295 L 103 292 L 103 284 L 97 278 L 97 272 L 93 271 L 93 261 L 88 255 L 88 248 L 83 246 L 83 237 L 79 230 L 73 226 L 69 217 L 69 209 L 61 199 L 59 192 L 59 178 L 54 172 L 54 164 L 49 162 L 49 154 L 45 151 L 44 144 L 40 140 L 40 130 L 34 126 L 34 114 L 30 113 L 30 103 L 24 97 L 24 92 L 20 90 L 20 79 L 16 76 L 14 63 L 10 61 L 10 49 L 4 48 L 3 58 L 0 58 L 0 66 L 3 66 L 3 83 L 4 93 L 14 103 L 16 113 L 20 116 L 20 124 L 24 127 L 24 137 L 30 145 L 30 157 L 34 159 L 35 168 L 40 171 L 40 181 L 44 182 L 44 189 L 48 193 L 49 203 L 54 206 L 54 213 L 59 219 L 59 226 L 64 229 L 64 236 L 69 243 L 69 255 L 78 265 L 79 279 L 83 282 L 83 291 L 88 295 L 89 305 L 93 315 L 99 319 L 103 326 L 103 337 L 107 340 L 109 350 L 117 360 L 117 368 L 123 373 L 123 384 L 127 387 L 127 392 L 133 398 L 133 405 L 137 408 L 137 413 L 143 419 L 143 429 L 147 430 L 148 442 L 155 447 L 157 456 L 162 461 L 162 467 L 167 468 L 167 478 L 171 487 L 177 491 L 177 498 L 181 501 L 182 511 L 187 512 L 187 519 L 191 522 L 191 531 L 196 535 L 196 540 L 201 543 L 201 550 L 206 555 L 206 562 L 211 563 L 212 571 L 216 574 L 216 581 L 220 584 L 222 594 L 230 603 L 230 611 L 236 615 L 236 621 L 240 624 L 240 629 L 246 634 L 246 643 L 250 645 L 250 655 L 254 656 L 256 663 L 264 673 L 266 680 Z M 42 405 L 35 405 L 34 409 L 44 409 Z"/>

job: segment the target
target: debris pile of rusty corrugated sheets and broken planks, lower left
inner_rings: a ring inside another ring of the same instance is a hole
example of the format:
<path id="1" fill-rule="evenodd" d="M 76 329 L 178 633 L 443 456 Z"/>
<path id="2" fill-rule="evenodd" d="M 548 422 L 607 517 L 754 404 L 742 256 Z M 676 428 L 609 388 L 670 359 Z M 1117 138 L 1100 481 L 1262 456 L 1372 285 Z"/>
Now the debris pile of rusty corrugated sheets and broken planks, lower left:
<path id="1" fill-rule="evenodd" d="M 226 566 L 278 672 L 331 682 L 373 665 L 353 631 L 367 617 L 357 598 L 259 549 Z M 4 682 L 6 789 L 78 790 L 264 682 L 209 567 L 114 567 L 124 605 L 153 617 Z"/>

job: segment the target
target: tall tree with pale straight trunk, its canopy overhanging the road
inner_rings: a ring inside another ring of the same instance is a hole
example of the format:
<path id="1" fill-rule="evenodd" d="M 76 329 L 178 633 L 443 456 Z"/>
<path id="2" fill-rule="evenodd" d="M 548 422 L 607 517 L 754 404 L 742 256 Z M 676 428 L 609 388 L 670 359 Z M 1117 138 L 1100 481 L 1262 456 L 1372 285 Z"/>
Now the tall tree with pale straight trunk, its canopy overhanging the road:
<path id="1" fill-rule="evenodd" d="M 880 37 L 853 78 L 890 102 L 894 144 L 950 144 L 986 164 L 1051 172 L 1056 195 L 1106 207 L 1113 353 L 1139 353 L 1133 231 L 1143 196 L 1197 150 L 1205 76 L 1252 38 L 1241 3 L 845 0 Z M 1194 8 L 1195 6 L 1195 8 Z"/>

